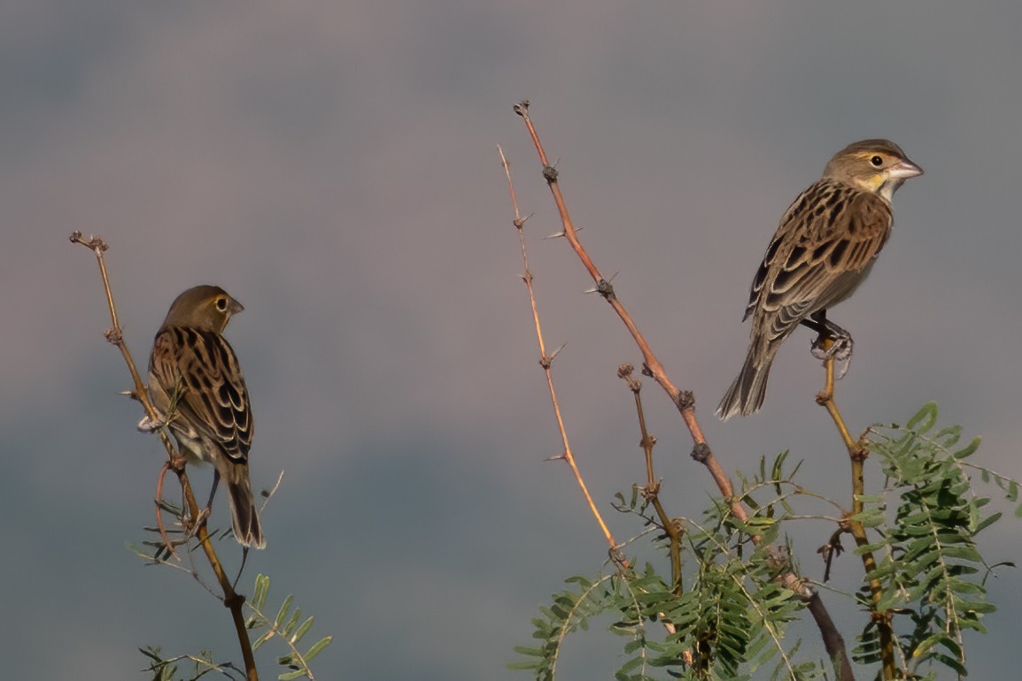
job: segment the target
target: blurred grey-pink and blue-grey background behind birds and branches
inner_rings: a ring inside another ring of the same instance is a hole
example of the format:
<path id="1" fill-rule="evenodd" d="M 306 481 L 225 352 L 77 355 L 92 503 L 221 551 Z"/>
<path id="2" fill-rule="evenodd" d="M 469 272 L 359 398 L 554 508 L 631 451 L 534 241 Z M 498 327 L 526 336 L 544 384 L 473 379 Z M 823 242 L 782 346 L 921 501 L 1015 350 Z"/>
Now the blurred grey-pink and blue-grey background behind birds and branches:
<path id="1" fill-rule="evenodd" d="M 512 163 L 540 312 L 579 466 L 610 501 L 644 479 L 624 329 L 562 240 L 515 101 L 532 115 L 582 238 L 667 368 L 694 391 L 729 471 L 790 449 L 848 503 L 847 458 L 814 403 L 811 335 L 781 351 L 764 409 L 722 424 L 755 266 L 788 203 L 868 137 L 926 175 L 895 197 L 870 280 L 832 318 L 855 338 L 838 399 L 852 430 L 935 400 L 1022 477 L 1017 398 L 1022 4 L 901 2 L 159 2 L 0 8 L 0 676 L 132 679 L 136 647 L 237 659 L 229 618 L 183 573 L 124 547 L 152 522 L 164 461 L 108 326 L 99 234 L 144 363 L 182 290 L 246 307 L 228 330 L 252 395 L 252 481 L 283 485 L 242 585 L 293 593 L 334 635 L 317 678 L 525 679 L 539 603 L 606 545 L 569 477 L 539 368 Z M 663 499 L 714 493 L 647 382 Z M 195 471 L 204 495 L 210 470 Z M 994 492 L 995 490 L 991 490 Z M 221 497 L 214 521 L 226 522 Z M 808 576 L 831 529 L 805 530 Z M 1022 527 L 989 531 L 1018 560 Z M 237 551 L 225 544 L 228 561 Z M 660 568 L 666 570 L 661 561 Z M 861 568 L 844 556 L 837 584 Z M 991 585 L 975 678 L 1008 678 L 1022 580 Z M 828 603 L 850 641 L 862 626 Z M 562 679 L 610 678 L 620 642 L 570 639 Z M 807 645 L 816 644 L 807 630 Z M 817 645 L 819 648 L 819 645 Z M 275 678 L 280 649 L 260 653 Z M 1007 676 L 1006 676 L 1007 675 Z M 862 672 L 863 678 L 869 674 Z"/>

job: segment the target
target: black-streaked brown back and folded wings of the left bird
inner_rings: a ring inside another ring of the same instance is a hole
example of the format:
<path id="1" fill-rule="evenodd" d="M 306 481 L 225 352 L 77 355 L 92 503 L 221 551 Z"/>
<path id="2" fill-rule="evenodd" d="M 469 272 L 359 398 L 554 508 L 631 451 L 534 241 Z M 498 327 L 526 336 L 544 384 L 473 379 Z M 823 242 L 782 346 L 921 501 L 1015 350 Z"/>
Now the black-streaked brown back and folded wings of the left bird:
<path id="1" fill-rule="evenodd" d="M 177 418 L 245 461 L 252 440 L 248 390 L 234 350 L 213 331 L 168 327 L 153 342 L 149 371 L 168 395 L 180 395 Z"/>

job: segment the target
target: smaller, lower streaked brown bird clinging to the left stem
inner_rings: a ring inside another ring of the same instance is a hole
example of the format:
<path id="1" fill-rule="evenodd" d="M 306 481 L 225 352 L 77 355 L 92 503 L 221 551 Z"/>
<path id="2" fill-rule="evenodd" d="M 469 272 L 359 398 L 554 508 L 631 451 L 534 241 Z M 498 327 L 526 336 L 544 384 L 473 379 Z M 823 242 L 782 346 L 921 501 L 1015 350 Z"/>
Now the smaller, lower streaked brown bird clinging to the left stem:
<path id="1" fill-rule="evenodd" d="M 191 463 L 212 461 L 210 504 L 227 483 L 234 537 L 264 548 L 248 481 L 252 412 L 241 367 L 223 331 L 244 307 L 219 286 L 196 286 L 177 297 L 156 332 L 149 357 L 149 397 Z"/>

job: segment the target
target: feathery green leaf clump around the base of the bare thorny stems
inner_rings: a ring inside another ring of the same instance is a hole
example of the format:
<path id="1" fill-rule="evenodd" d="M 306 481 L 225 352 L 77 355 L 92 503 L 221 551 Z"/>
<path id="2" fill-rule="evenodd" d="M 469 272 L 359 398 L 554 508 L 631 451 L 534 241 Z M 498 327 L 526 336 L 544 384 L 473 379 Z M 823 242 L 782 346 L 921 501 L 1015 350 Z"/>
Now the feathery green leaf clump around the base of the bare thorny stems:
<path id="1" fill-rule="evenodd" d="M 774 471 L 782 469 L 783 457 L 775 461 Z M 749 490 L 787 485 L 795 493 L 788 480 L 768 484 L 763 478 L 756 476 Z M 617 499 L 618 510 L 637 515 L 648 528 L 658 528 L 648 502 L 635 490 L 631 499 L 621 494 Z M 554 594 L 551 605 L 541 609 L 544 617 L 532 620 L 532 637 L 543 644 L 516 647 L 526 660 L 509 667 L 531 671 L 542 681 L 554 679 L 564 638 L 585 630 L 594 617 L 610 613 L 611 631 L 629 639 L 615 679 L 660 678 L 653 676 L 656 670 L 673 678 L 739 679 L 747 678 L 743 670 L 751 673 L 774 661 L 775 676 L 822 678 L 821 665 L 793 661 L 797 641 L 785 647 L 785 629 L 804 606 L 776 580 L 790 569 L 787 552 L 758 548 L 749 541 L 752 534 L 777 536 L 775 518 L 786 513 L 785 503 L 785 495 L 778 495 L 746 523 L 739 523 L 723 503 L 709 508 L 701 523 L 683 520 L 686 555 L 694 568 L 681 593 L 675 593 L 671 580 L 649 564 L 642 573 L 618 568 L 594 580 L 571 578 L 574 587 Z M 654 539 L 661 548 L 665 541 L 662 532 Z M 650 624 L 655 624 L 652 631 Z"/>

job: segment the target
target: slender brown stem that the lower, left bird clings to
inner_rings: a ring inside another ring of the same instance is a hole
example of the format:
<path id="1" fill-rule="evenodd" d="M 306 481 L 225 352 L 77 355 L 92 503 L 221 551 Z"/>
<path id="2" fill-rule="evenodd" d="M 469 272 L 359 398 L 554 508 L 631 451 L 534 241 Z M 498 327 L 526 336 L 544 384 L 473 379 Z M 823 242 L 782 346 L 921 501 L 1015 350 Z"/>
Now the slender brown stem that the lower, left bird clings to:
<path id="1" fill-rule="evenodd" d="M 125 343 L 124 329 L 121 327 L 121 323 L 118 320 L 117 305 L 113 304 L 113 293 L 111 292 L 109 277 L 106 273 L 106 261 L 103 259 L 103 253 L 109 249 L 109 246 L 100 237 L 91 236 L 88 239 L 85 239 L 83 238 L 82 233 L 77 231 L 71 235 L 71 242 L 85 246 L 96 256 L 96 261 L 99 264 L 99 274 L 103 278 L 103 290 L 106 293 L 106 302 L 109 306 L 111 323 L 111 327 L 107 329 L 103 335 L 106 337 L 106 340 L 121 350 L 121 354 L 125 358 L 125 363 L 128 366 L 128 371 L 131 372 L 132 381 L 134 383 L 134 389 L 131 396 L 142 403 L 142 407 L 145 409 L 146 416 L 152 422 L 157 422 L 159 417 L 156 409 L 153 407 L 152 402 L 149 400 L 148 391 L 146 390 L 145 384 L 142 383 L 142 378 L 138 373 L 135 361 L 128 349 L 128 345 Z M 160 441 L 164 443 L 164 447 L 167 449 L 167 455 L 170 456 L 170 468 L 177 474 L 178 479 L 181 481 L 182 494 L 184 495 L 185 502 L 188 504 L 191 518 L 198 519 L 198 503 L 195 501 L 195 494 L 192 492 L 191 483 L 188 481 L 188 475 L 185 472 L 185 463 L 187 459 L 178 453 L 174 444 L 171 442 L 171 438 L 167 434 L 166 429 L 158 429 L 157 434 Z M 162 473 L 160 475 L 162 475 Z M 159 520 L 158 513 L 157 508 L 157 520 Z M 159 524 L 159 527 L 162 529 L 161 523 Z M 166 539 L 166 532 L 162 532 L 162 535 Z M 256 658 L 252 655 L 251 641 L 248 640 L 248 632 L 245 629 L 244 617 L 241 613 L 241 605 L 244 603 L 245 598 L 234 590 L 230 580 L 227 578 L 227 573 L 224 571 L 224 567 L 220 563 L 217 551 L 213 547 L 213 542 L 210 540 L 210 533 L 206 530 L 204 523 L 198 526 L 196 537 L 198 538 L 199 545 L 202 546 L 206 560 L 210 562 L 210 567 L 213 568 L 213 572 L 217 576 L 217 581 L 223 589 L 224 604 L 231 611 L 231 619 L 234 621 L 234 629 L 238 637 L 238 644 L 241 646 L 241 656 L 245 663 L 247 680 L 259 681 L 259 672 L 256 670 Z M 168 544 L 168 548 L 173 552 L 174 549 L 171 544 Z"/>

